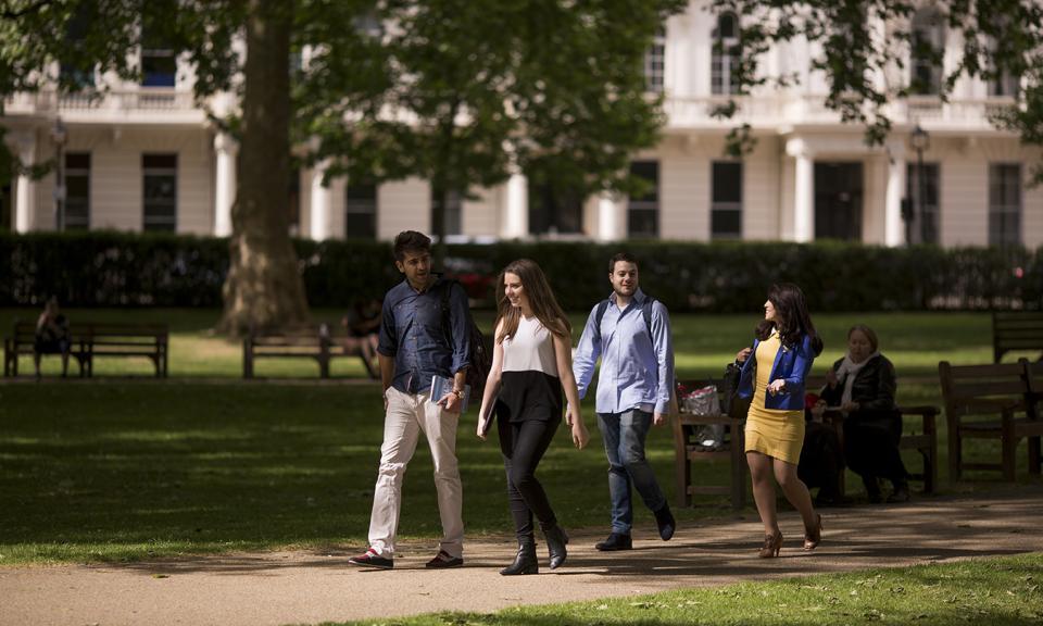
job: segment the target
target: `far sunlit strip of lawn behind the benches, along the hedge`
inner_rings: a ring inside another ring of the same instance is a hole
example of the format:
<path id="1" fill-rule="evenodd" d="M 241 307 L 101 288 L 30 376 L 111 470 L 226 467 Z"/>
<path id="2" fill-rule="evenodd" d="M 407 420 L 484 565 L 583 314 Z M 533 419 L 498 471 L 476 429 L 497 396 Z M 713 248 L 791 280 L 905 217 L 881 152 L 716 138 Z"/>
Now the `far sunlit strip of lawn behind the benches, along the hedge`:
<path id="1" fill-rule="evenodd" d="M 90 309 L 67 310 L 72 321 L 140 321 L 166 323 L 171 327 L 172 377 L 242 377 L 242 345 L 215 337 L 211 328 L 221 316 L 217 310 L 198 309 Z M 12 327 L 15 318 L 36 320 L 32 309 L 0 309 L 0 331 Z M 342 311 L 315 310 L 313 318 L 335 324 Z M 493 314 L 476 312 L 479 325 L 491 331 Z M 725 364 L 734 359 L 753 339 L 752 329 L 758 316 L 751 315 L 676 315 L 673 330 L 678 374 L 681 377 L 719 376 Z M 586 315 L 571 316 L 575 339 L 579 339 Z M 902 376 L 937 376 L 938 362 L 989 363 L 992 361 L 992 330 L 985 313 L 903 313 L 903 314 L 829 314 L 816 315 L 815 323 L 826 341 L 826 350 L 816 362 L 816 371 L 825 370 L 843 355 L 847 328 L 856 323 L 869 324 L 880 336 L 881 350 L 891 359 Z M 1016 359 L 1010 354 L 1006 359 Z M 71 371 L 76 372 L 74 364 Z M 24 356 L 18 362 L 23 375 L 32 375 L 33 361 Z M 61 372 L 60 362 L 50 356 L 43 360 L 45 375 Z M 99 359 L 97 376 L 149 376 L 151 363 L 147 359 Z M 257 376 L 314 378 L 315 363 L 301 360 L 259 360 Z M 334 361 L 335 377 L 364 377 L 357 359 Z"/>

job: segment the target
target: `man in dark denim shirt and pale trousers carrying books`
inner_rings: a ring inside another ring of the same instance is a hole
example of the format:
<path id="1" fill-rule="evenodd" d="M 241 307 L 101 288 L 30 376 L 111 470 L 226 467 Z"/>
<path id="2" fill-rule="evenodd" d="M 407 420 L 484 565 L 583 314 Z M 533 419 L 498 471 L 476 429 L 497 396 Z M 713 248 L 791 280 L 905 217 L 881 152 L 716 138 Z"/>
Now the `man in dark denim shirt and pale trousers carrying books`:
<path id="1" fill-rule="evenodd" d="M 435 462 L 435 486 L 442 522 L 438 554 L 428 567 L 464 564 L 463 487 L 456 463 L 456 425 L 470 365 L 470 311 L 467 295 L 454 281 L 430 271 L 431 240 L 405 230 L 394 238 L 394 264 L 405 280 L 384 298 L 380 325 L 380 380 L 384 384 L 384 445 L 373 492 L 369 549 L 349 562 L 390 569 L 402 501 L 402 477 L 423 430 Z M 443 290 L 451 289 L 448 322 Z M 430 398 L 435 376 L 452 379 L 452 389 Z"/>

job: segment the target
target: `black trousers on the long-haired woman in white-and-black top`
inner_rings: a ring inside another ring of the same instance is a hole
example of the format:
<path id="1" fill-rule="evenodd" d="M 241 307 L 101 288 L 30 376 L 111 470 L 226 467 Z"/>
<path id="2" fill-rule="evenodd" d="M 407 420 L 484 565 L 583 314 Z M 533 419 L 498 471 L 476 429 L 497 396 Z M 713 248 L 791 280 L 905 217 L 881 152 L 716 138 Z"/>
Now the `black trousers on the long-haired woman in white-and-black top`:
<path id="1" fill-rule="evenodd" d="M 507 503 L 514 518 L 514 531 L 518 540 L 532 539 L 532 516 L 543 527 L 557 524 L 557 517 L 546 499 L 543 486 L 536 478 L 536 467 L 554 439 L 562 420 L 497 421 L 500 434 L 500 451 L 507 472 Z"/>

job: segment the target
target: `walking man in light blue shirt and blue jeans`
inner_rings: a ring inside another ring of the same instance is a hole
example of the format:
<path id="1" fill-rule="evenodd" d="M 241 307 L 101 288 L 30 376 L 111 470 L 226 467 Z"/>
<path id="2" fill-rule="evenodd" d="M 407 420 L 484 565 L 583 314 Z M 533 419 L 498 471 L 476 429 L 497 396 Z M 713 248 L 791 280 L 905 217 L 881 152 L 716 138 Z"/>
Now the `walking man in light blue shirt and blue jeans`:
<path id="1" fill-rule="evenodd" d="M 629 550 L 633 524 L 631 486 L 655 513 L 659 537 L 674 536 L 676 522 L 655 474 L 644 458 L 649 428 L 666 421 L 674 385 L 674 346 L 670 318 L 662 302 L 638 286 L 638 262 L 625 252 L 608 264 L 612 296 L 590 312 L 583 336 L 573 355 L 579 397 L 594 374 L 598 427 L 608 456 L 608 493 L 612 498 L 612 534 L 598 550 Z M 571 410 L 566 420 L 570 423 Z"/>

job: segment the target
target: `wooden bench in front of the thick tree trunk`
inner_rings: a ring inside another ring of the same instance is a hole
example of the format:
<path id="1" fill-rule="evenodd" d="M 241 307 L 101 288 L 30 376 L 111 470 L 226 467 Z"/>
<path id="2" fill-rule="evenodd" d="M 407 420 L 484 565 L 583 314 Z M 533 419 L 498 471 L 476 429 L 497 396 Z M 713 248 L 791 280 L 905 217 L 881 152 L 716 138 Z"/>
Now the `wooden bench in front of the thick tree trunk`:
<path id="1" fill-rule="evenodd" d="M 319 378 L 329 378 L 330 362 L 341 356 L 362 360 L 366 374 L 370 378 L 379 377 L 362 350 L 345 349 L 344 337 L 330 334 L 329 328 L 331 326 L 318 324 L 251 330 L 242 340 L 242 377 L 254 377 L 256 359 L 313 359 L 318 364 Z"/>

